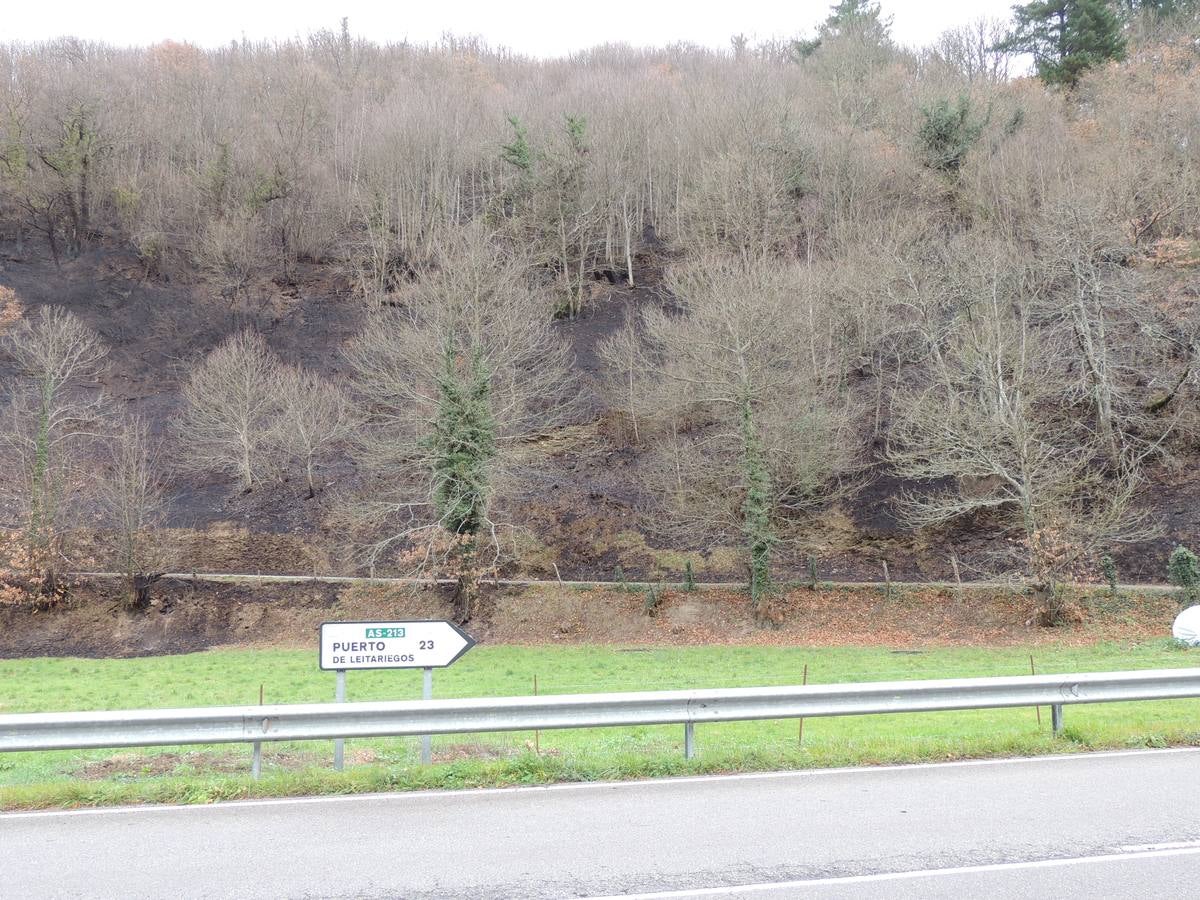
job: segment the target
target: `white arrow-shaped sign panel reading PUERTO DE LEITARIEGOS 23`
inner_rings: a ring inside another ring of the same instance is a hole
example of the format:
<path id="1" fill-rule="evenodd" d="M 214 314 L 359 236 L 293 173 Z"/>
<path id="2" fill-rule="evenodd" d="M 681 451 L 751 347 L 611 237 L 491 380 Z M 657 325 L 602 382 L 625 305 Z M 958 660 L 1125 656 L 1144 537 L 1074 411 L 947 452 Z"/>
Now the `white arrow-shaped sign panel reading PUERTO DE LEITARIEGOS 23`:
<path id="1" fill-rule="evenodd" d="M 326 622 L 320 667 L 442 668 L 474 646 L 452 622 Z"/>

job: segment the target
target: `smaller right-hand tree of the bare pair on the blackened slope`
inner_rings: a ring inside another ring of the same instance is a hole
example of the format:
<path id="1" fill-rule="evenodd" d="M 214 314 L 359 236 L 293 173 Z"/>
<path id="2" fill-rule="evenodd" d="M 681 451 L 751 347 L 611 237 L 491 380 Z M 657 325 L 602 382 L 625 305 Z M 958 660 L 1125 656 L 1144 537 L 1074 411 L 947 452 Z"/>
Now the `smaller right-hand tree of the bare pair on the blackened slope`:
<path id="1" fill-rule="evenodd" d="M 317 463 L 354 430 L 349 400 L 340 384 L 287 366 L 278 373 L 278 402 L 274 444 L 283 464 L 304 469 L 308 497 L 316 497 Z"/>

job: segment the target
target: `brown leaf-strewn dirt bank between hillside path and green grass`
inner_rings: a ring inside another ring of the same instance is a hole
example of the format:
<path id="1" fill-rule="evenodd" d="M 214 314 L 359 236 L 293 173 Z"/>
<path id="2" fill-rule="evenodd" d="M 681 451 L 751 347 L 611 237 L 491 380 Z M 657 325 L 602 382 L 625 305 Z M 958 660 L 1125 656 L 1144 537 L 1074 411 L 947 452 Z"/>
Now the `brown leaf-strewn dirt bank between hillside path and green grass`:
<path id="1" fill-rule="evenodd" d="M 1081 598 L 1085 622 L 1030 624 L 1033 601 L 1010 592 L 804 588 L 778 599 L 779 628 L 755 623 L 739 593 L 666 590 L 648 614 L 646 592 L 557 586 L 487 593 L 468 624 L 490 643 L 794 644 L 888 647 L 1090 643 L 1170 634 L 1166 594 Z M 228 584 L 190 578 L 157 586 L 145 611 L 120 610 L 112 583 L 80 586 L 55 610 L 0 606 L 0 656 L 138 656 L 228 644 L 316 647 L 322 622 L 449 618 L 448 594 L 427 586 Z"/>

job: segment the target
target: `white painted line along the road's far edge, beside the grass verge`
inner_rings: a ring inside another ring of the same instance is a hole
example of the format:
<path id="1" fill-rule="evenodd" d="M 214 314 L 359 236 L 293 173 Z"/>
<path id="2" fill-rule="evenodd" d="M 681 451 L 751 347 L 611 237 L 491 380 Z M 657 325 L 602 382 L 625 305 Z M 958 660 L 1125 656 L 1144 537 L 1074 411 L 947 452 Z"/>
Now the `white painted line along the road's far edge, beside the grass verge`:
<path id="1" fill-rule="evenodd" d="M 919 769 L 952 769 L 976 766 L 1016 766 L 1025 763 L 1055 763 L 1078 760 L 1108 760 L 1124 756 L 1162 756 L 1166 754 L 1200 754 L 1195 746 L 1170 746 L 1154 750 L 1102 750 L 1098 752 L 1055 754 L 1050 756 L 1006 756 L 992 760 L 953 760 L 949 762 L 916 762 L 899 766 L 853 766 L 847 768 L 793 769 L 790 772 L 742 772 L 732 775 L 683 775 L 677 778 L 635 779 L 628 781 L 572 781 L 557 785 L 524 785 L 518 787 L 473 787 L 466 790 L 440 788 L 426 791 L 394 791 L 390 793 L 334 794 L 324 797 L 272 797 L 258 800 L 222 800 L 208 804 L 190 805 L 143 805 L 143 806 L 89 806 L 68 810 L 29 810 L 24 812 L 0 812 L 0 822 L 10 818 L 31 818 L 43 816 L 107 816 L 145 812 L 179 812 L 198 810 L 232 810 L 248 806 L 299 806 L 322 803 L 401 803 L 410 799 L 438 797 L 445 800 L 469 799 L 488 794 L 515 793 L 551 793 L 562 791 L 622 790 L 632 787 L 672 787 L 674 785 L 712 784 L 725 781 L 760 781 L 768 779 L 805 779 L 829 778 L 834 775 L 854 774 L 890 774 Z"/>

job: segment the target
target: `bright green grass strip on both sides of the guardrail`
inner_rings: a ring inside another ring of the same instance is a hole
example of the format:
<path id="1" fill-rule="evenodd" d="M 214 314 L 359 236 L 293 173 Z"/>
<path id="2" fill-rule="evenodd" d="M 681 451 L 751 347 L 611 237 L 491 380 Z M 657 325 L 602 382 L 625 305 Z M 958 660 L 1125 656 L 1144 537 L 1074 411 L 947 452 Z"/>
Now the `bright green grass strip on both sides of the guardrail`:
<path id="1" fill-rule="evenodd" d="M 434 696 L 512 696 L 674 688 L 1025 674 L 1025 648 L 478 647 L 434 677 Z M 1040 646 L 1039 673 L 1182 667 L 1200 653 L 1169 641 Z M 0 714 L 332 700 L 334 676 L 311 650 L 214 650 L 121 660 L 0 661 Z M 420 696 L 419 672 L 350 672 L 348 698 Z M 709 772 L 917 762 L 1073 750 L 1200 744 L 1200 702 L 1067 707 L 1050 734 L 1049 710 L 809 719 L 698 726 L 696 760 L 683 758 L 682 726 L 439 736 L 434 764 L 418 764 L 413 738 L 348 742 L 350 763 L 329 770 L 330 742 L 268 744 L 264 774 L 248 778 L 250 748 L 161 748 L 0 755 L 0 808 L 109 803 L 203 803 L 235 797 L 422 787 L 544 784 Z M 536 740 L 538 754 L 534 752 Z M 440 760 L 440 762 L 438 762 Z"/>

